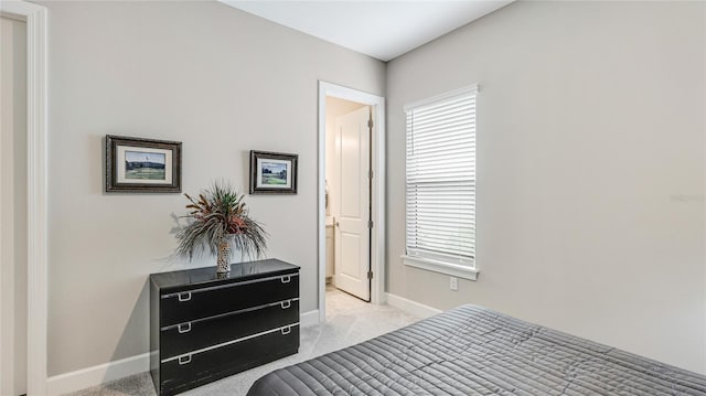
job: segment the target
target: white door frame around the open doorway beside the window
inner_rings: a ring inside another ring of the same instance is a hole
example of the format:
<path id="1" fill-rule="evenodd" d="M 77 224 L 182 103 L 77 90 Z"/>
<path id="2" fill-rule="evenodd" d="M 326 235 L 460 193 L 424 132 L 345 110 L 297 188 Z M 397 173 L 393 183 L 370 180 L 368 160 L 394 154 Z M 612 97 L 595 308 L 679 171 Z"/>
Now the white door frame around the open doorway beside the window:
<path id="1" fill-rule="evenodd" d="M 371 106 L 374 114 L 376 133 L 371 140 L 373 162 L 373 194 L 371 229 L 371 303 L 385 303 L 385 98 L 342 85 L 319 81 L 319 178 L 318 178 L 318 222 L 319 242 L 319 322 L 327 319 L 325 313 L 325 135 L 327 96 L 351 100 Z"/>

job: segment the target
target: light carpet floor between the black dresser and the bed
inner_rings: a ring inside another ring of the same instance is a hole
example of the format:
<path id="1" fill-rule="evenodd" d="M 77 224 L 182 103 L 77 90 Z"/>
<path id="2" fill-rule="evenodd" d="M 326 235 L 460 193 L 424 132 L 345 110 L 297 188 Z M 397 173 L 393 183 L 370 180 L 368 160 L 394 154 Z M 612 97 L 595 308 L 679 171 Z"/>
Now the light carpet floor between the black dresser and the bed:
<path id="1" fill-rule="evenodd" d="M 185 396 L 245 395 L 263 375 L 414 323 L 419 318 L 389 306 L 373 306 L 335 288 L 327 288 L 327 322 L 301 329 L 299 353 L 183 393 Z M 156 396 L 149 373 L 141 373 L 71 396 Z"/>

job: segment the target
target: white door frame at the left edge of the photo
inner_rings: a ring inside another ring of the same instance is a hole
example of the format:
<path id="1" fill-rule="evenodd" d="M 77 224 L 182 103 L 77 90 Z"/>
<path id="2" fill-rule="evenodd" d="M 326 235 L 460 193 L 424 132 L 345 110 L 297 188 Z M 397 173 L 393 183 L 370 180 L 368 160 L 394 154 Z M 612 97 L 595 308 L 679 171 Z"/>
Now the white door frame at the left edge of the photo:
<path id="1" fill-rule="evenodd" d="M 26 18 L 28 52 L 28 395 L 46 395 L 47 327 L 47 10 L 22 0 L 0 11 Z M 0 354 L 2 352 L 0 351 Z M 0 377 L 0 381 L 4 381 Z"/>

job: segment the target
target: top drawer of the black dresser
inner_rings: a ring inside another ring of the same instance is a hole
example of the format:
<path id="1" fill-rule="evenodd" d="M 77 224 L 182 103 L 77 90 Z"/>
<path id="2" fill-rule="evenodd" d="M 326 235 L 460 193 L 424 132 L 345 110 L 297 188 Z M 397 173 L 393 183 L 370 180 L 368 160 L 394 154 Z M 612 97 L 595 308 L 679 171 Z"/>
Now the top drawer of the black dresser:
<path id="1" fill-rule="evenodd" d="M 161 327 L 165 328 L 298 297 L 298 274 L 167 293 L 160 298 Z"/>

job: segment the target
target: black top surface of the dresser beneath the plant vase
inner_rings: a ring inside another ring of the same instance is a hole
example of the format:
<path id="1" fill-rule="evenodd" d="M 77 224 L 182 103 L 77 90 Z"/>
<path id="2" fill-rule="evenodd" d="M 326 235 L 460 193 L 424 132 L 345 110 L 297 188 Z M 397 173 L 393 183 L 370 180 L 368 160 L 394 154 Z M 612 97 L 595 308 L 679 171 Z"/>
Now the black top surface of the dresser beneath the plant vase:
<path id="1" fill-rule="evenodd" d="M 228 274 L 216 274 L 216 266 L 211 266 L 171 272 L 151 274 L 150 280 L 160 289 L 170 289 L 237 282 L 248 279 L 264 278 L 267 276 L 291 274 L 297 270 L 299 270 L 299 266 L 278 260 L 276 258 L 268 258 L 257 261 L 232 264 L 231 272 Z"/>

